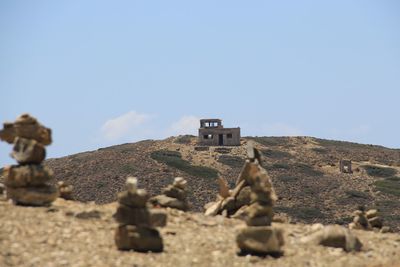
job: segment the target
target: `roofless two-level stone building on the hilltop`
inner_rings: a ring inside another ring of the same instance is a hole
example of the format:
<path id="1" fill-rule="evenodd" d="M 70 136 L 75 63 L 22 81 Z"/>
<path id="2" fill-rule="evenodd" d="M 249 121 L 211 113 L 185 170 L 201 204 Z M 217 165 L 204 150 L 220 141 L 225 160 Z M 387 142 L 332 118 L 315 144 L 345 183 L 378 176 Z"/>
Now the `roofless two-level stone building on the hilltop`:
<path id="1" fill-rule="evenodd" d="M 224 128 L 220 119 L 200 120 L 199 145 L 240 146 L 240 127 Z"/>

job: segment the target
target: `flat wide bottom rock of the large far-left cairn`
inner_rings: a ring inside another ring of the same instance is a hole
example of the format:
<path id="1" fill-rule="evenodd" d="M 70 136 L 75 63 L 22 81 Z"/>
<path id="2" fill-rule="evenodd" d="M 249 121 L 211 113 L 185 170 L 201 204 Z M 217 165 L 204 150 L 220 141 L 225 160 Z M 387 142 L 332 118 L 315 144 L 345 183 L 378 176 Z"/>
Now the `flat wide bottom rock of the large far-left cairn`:
<path id="1" fill-rule="evenodd" d="M 45 206 L 58 197 L 55 186 L 42 185 L 35 187 L 7 187 L 7 198 L 16 204 L 27 206 Z"/>

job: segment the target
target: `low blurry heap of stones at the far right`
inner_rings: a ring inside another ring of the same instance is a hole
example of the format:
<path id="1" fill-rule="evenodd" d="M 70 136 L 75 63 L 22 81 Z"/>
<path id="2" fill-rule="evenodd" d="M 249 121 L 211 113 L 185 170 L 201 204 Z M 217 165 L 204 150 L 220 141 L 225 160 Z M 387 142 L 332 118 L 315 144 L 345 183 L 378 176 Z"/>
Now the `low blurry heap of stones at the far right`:
<path id="1" fill-rule="evenodd" d="M 383 220 L 378 214 L 378 210 L 371 209 L 365 211 L 365 208 L 360 206 L 354 212 L 353 222 L 349 224 L 350 229 L 389 232 L 390 228 L 383 226 Z"/>

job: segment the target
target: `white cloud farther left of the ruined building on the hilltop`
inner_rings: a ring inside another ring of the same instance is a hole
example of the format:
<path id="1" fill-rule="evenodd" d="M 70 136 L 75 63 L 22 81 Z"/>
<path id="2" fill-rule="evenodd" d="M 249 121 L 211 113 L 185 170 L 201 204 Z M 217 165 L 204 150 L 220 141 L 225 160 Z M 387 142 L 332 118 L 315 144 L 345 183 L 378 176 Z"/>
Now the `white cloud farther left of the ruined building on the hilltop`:
<path id="1" fill-rule="evenodd" d="M 131 110 L 119 117 L 106 121 L 101 127 L 102 137 L 108 141 L 115 141 L 131 135 L 151 117 L 149 114 Z"/>

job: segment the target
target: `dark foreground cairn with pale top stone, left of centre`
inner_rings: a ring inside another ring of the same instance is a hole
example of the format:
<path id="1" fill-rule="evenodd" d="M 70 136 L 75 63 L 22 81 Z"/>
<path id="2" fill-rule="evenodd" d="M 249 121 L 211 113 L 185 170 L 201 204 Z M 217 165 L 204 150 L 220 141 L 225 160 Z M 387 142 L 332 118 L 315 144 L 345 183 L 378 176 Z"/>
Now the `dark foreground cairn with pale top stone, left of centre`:
<path id="1" fill-rule="evenodd" d="M 115 244 L 120 250 L 139 252 L 163 251 L 163 240 L 155 227 L 166 225 L 167 215 L 160 209 L 147 207 L 149 195 L 137 188 L 137 179 L 128 177 L 126 191 L 118 195 L 118 208 L 114 214 L 118 222 Z"/>

